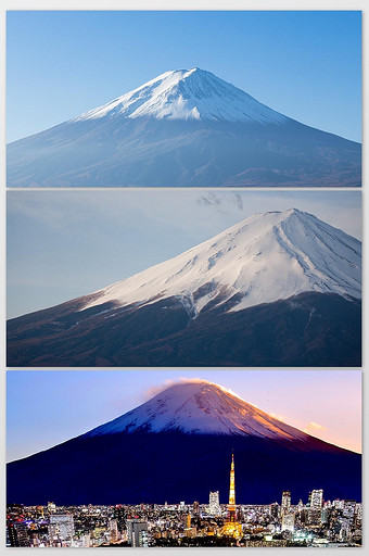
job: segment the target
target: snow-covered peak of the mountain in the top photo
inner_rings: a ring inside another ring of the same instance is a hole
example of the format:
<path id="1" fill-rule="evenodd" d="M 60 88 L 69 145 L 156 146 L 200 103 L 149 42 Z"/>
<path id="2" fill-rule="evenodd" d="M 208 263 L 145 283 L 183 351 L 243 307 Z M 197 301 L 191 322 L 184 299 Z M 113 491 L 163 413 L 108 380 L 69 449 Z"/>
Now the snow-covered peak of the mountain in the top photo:
<path id="1" fill-rule="evenodd" d="M 262 104 L 233 85 L 209 72 L 166 72 L 103 106 L 72 119 L 104 117 L 153 117 L 155 119 L 224 119 L 282 124 L 287 116 Z"/>

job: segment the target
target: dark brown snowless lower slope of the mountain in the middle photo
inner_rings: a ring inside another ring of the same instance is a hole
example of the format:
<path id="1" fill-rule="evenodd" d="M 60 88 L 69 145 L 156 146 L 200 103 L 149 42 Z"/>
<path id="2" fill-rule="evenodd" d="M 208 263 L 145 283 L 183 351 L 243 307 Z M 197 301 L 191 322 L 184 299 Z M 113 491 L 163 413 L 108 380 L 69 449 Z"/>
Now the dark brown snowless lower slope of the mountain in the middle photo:
<path id="1" fill-rule="evenodd" d="M 65 303 L 10 320 L 8 365 L 361 365 L 361 303 L 336 294 L 302 293 L 234 313 L 207 308 L 196 319 L 175 298 L 106 318 L 109 308 L 76 314 Z"/>

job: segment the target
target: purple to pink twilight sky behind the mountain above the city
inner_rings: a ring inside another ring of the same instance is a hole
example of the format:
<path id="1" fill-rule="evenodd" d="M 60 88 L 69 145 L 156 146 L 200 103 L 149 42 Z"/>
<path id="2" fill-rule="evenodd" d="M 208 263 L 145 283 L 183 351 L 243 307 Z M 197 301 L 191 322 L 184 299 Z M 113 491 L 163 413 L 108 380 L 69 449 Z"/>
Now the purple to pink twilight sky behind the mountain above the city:
<path id="1" fill-rule="evenodd" d="M 361 451 L 360 371 L 27 370 L 8 371 L 8 460 L 112 420 L 181 377 L 230 388 L 309 434 Z"/>

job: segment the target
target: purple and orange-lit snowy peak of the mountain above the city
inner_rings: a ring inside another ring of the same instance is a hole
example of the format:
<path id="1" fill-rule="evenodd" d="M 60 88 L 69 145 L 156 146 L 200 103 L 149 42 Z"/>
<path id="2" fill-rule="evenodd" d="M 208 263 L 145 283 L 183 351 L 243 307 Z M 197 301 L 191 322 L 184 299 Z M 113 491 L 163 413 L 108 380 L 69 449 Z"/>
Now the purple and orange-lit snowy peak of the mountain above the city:
<path id="1" fill-rule="evenodd" d="M 175 383 L 139 407 L 86 435 L 130 433 L 137 430 L 179 430 L 192 434 L 241 434 L 284 440 L 309 438 L 229 390 L 205 380 Z"/>

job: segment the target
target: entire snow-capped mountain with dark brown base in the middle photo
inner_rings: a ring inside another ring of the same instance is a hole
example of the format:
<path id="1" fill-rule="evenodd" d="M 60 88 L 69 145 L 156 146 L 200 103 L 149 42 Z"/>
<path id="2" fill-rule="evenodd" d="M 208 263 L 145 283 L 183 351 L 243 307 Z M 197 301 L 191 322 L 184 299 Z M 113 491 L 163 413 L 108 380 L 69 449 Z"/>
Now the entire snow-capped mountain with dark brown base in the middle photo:
<path id="1" fill-rule="evenodd" d="M 361 243 L 255 214 L 120 282 L 8 323 L 9 366 L 357 366 Z"/>

